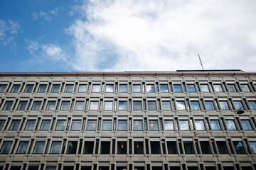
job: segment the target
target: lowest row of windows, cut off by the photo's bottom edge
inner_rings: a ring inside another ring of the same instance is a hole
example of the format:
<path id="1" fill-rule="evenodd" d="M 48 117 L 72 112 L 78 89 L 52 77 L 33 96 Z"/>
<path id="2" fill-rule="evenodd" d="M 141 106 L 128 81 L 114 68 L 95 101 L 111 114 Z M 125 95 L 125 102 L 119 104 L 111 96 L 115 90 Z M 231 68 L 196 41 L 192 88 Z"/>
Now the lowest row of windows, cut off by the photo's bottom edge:
<path id="1" fill-rule="evenodd" d="M 256 164 L 251 162 L 21 162 L 0 163 L 0 170 L 255 170 Z"/>

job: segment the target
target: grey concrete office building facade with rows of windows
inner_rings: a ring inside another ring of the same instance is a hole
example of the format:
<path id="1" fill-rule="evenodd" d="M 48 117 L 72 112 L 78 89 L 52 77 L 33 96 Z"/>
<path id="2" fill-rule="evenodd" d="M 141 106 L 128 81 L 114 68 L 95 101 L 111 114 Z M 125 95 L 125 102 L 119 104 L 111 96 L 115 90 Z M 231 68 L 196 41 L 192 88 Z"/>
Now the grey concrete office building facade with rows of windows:
<path id="1" fill-rule="evenodd" d="M 0 73 L 0 169 L 255 170 L 255 91 L 242 70 Z"/>

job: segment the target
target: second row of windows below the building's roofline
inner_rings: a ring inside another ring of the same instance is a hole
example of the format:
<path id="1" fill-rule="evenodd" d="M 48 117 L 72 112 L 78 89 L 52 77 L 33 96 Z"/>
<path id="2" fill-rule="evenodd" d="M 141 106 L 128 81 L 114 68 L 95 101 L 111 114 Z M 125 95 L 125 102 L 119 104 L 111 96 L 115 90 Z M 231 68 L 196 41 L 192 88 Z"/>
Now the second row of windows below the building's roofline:
<path id="1" fill-rule="evenodd" d="M 6 98 L 3 111 L 237 111 L 256 110 L 255 98 Z"/>

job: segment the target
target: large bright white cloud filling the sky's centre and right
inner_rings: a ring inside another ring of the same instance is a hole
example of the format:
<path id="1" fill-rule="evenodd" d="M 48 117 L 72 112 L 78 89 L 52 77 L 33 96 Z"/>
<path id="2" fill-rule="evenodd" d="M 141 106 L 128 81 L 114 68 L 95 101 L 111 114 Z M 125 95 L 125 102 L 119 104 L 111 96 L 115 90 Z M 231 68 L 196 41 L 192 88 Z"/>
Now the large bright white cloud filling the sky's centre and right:
<path id="1" fill-rule="evenodd" d="M 74 69 L 255 70 L 256 1 L 90 0 L 67 29 Z"/>

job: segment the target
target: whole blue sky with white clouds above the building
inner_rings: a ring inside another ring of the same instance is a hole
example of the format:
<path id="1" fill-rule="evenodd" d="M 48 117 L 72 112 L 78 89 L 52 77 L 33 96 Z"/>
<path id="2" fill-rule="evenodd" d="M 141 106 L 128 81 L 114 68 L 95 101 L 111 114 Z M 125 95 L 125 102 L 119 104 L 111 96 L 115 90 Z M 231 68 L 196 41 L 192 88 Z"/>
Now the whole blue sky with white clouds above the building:
<path id="1" fill-rule="evenodd" d="M 0 1 L 0 72 L 256 71 L 255 0 Z"/>

